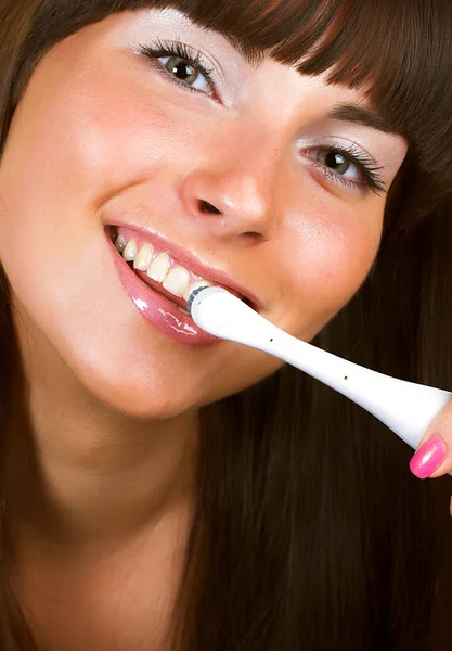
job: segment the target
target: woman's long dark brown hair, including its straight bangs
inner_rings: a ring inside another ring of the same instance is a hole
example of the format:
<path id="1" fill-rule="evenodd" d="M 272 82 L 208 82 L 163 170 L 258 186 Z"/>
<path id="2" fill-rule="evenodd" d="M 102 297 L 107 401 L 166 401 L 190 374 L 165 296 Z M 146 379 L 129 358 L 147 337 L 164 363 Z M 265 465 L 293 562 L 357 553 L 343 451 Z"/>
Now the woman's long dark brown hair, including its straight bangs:
<path id="1" fill-rule="evenodd" d="M 315 344 L 452 388 L 452 5 L 444 0 L 2 0 L 0 152 L 39 59 L 114 12 L 175 7 L 249 56 L 365 85 L 409 141 L 373 271 Z M 0 285 L 4 469 L 20 375 Z M 452 639 L 449 478 L 419 483 L 410 449 L 292 368 L 203 411 L 197 512 L 175 649 L 427 651 Z M 30 649 L 9 580 L 1 494 L 0 641 Z"/>

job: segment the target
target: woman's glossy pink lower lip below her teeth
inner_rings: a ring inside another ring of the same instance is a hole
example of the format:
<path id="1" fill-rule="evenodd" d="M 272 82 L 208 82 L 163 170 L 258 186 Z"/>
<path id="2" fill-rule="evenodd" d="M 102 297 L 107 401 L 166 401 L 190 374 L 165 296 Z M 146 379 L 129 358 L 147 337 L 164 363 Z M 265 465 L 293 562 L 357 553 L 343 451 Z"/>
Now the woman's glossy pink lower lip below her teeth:
<path id="1" fill-rule="evenodd" d="M 167 298 L 144 284 L 109 239 L 108 244 L 126 294 L 148 323 L 176 342 L 189 346 L 207 346 L 220 341 L 201 330 L 189 315 L 181 312 Z"/>

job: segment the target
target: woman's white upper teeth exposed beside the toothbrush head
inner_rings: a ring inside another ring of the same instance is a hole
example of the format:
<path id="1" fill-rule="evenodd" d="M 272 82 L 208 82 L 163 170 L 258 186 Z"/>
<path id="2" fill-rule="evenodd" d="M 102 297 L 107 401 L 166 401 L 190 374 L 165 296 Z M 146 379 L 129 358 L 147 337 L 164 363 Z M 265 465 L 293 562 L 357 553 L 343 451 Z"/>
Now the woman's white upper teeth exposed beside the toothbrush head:
<path id="1" fill-rule="evenodd" d="M 143 244 L 139 251 L 135 240 L 126 242 L 125 237 L 119 234 L 115 239 L 115 246 L 126 261 L 133 263 L 134 269 L 146 272 L 168 292 L 184 301 L 189 299 L 193 290 L 210 284 L 203 278 L 194 278 L 185 267 L 172 263 L 167 253 L 155 253 L 148 243 Z"/>

